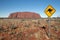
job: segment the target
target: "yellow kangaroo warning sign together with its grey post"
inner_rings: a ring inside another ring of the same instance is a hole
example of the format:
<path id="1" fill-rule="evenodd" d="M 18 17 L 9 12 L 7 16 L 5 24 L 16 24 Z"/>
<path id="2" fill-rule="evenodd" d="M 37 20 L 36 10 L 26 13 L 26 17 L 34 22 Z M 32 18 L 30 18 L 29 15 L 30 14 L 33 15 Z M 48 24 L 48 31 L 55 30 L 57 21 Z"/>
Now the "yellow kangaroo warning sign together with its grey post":
<path id="1" fill-rule="evenodd" d="M 55 13 L 55 9 L 51 6 L 48 5 L 48 7 L 45 9 L 45 14 L 48 16 L 48 37 L 50 38 L 50 18 L 51 16 Z"/>

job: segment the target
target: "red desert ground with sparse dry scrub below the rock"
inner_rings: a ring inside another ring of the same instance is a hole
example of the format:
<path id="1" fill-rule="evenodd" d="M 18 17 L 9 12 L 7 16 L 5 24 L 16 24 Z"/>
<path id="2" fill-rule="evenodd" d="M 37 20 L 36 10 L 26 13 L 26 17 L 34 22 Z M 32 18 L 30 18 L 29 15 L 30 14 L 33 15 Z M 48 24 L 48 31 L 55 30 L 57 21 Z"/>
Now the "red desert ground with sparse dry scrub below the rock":
<path id="1" fill-rule="evenodd" d="M 8 19 L 3 20 L 1 19 L 0 21 L 0 37 L 3 35 L 3 37 L 1 40 L 6 40 L 8 37 L 10 38 L 9 40 L 13 40 L 15 37 L 17 38 L 16 40 L 33 40 L 36 39 L 36 37 L 38 40 L 44 40 L 43 35 L 48 35 L 48 26 L 43 27 L 43 24 L 47 24 L 48 23 L 42 20 L 38 20 L 38 19 Z M 58 21 L 54 21 L 54 23 L 52 22 L 53 20 L 51 20 L 51 37 L 54 40 L 59 40 L 59 33 L 60 32 L 60 23 L 57 24 Z M 4 26 L 3 26 L 4 25 Z M 45 30 L 44 30 L 45 29 Z M 57 31 L 57 32 L 56 32 Z M 37 36 L 35 35 L 38 34 Z M 6 34 L 6 35 L 5 35 Z M 46 35 L 46 36 L 47 36 Z M 12 37 L 12 39 L 11 39 Z M 19 39 L 20 38 L 20 39 Z M 30 38 L 30 39 L 29 39 Z M 47 39 L 46 39 L 47 40 Z"/>

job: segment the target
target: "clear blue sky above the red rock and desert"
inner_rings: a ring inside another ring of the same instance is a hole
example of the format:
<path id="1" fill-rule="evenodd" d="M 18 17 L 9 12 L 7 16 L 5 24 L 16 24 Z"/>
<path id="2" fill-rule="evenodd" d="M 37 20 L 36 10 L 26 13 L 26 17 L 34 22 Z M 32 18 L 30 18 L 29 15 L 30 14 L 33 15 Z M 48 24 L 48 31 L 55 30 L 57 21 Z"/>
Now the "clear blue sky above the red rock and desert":
<path id="1" fill-rule="evenodd" d="M 13 12 L 36 12 L 47 17 L 44 10 L 49 4 L 56 9 L 52 17 L 60 16 L 60 0 L 0 0 L 0 17 Z"/>

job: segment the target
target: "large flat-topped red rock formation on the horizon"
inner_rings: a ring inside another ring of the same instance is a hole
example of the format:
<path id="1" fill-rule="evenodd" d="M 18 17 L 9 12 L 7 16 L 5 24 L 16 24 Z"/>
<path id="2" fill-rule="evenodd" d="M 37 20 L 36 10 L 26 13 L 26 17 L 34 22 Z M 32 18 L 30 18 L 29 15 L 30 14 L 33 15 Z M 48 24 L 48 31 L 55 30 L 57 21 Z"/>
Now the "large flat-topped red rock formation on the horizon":
<path id="1" fill-rule="evenodd" d="M 8 18 L 41 18 L 39 14 L 34 12 L 16 12 L 11 13 Z"/>

